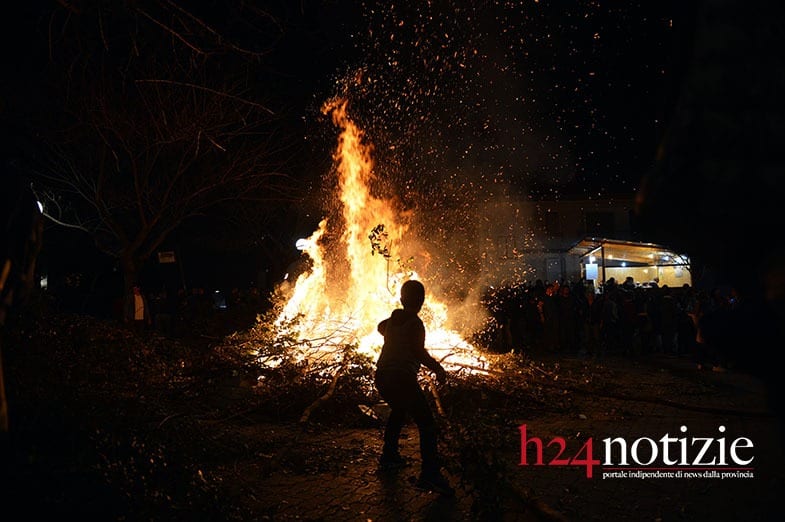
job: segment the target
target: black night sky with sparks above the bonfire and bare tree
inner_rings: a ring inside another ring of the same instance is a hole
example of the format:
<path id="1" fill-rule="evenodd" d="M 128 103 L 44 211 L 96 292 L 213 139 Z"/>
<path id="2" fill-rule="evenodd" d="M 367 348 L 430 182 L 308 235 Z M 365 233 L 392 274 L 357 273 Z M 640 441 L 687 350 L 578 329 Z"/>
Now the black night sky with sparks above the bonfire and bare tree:
<path id="1" fill-rule="evenodd" d="M 142 58 L 165 60 L 167 49 L 183 45 L 150 19 L 174 19 L 186 3 L 134 3 L 151 17 L 130 26 L 117 25 L 111 6 L 119 4 L 102 7 L 100 21 L 89 5 L 20 3 L 5 18 L 4 62 L 13 71 L 0 91 L 7 157 L 14 144 L 30 150 L 42 129 L 61 124 L 58 78 L 80 52 L 128 46 L 123 30 L 137 35 L 133 50 Z M 383 188 L 404 201 L 631 197 L 653 164 L 684 59 L 675 17 L 689 19 L 683 7 L 651 1 L 187 6 L 221 35 L 191 43 L 258 53 L 241 68 L 246 95 L 270 107 L 282 139 L 301 150 L 288 168 L 317 204 L 329 189 L 336 138 L 320 109 L 336 95 L 349 100 L 373 144 Z M 238 70 L 232 58 L 221 62 L 230 54 L 210 55 L 212 74 Z"/>

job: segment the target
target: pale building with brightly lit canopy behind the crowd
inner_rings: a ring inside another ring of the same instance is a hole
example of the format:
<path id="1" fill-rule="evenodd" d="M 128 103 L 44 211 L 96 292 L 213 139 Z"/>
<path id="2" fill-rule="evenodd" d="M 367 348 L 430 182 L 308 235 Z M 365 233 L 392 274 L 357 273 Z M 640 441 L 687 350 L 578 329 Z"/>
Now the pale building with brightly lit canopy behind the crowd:
<path id="1" fill-rule="evenodd" d="M 641 238 L 635 237 L 632 197 L 510 198 L 487 204 L 481 213 L 477 240 L 488 281 L 585 278 L 599 285 L 610 277 L 622 282 L 629 275 L 638 283 L 655 278 L 661 285 L 690 283 L 686 256 L 636 242 Z M 613 250 L 603 255 L 605 248 Z M 586 265 L 592 264 L 597 266 L 587 274 Z"/>

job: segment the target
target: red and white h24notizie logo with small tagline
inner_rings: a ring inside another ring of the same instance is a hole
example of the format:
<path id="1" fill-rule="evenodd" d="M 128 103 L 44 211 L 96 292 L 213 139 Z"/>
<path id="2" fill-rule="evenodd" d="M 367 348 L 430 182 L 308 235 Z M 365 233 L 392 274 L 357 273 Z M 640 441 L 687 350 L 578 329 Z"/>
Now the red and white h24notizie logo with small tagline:
<path id="1" fill-rule="evenodd" d="M 754 444 L 748 437 L 729 440 L 725 426 L 717 428 L 716 437 L 688 435 L 688 428 L 679 428 L 680 436 L 665 433 L 659 438 L 638 437 L 628 441 L 624 437 L 606 437 L 599 448 L 589 437 L 579 448 L 568 448 L 564 437 L 542 440 L 529 434 L 526 424 L 518 427 L 521 444 L 521 466 L 577 466 L 593 478 L 594 468 L 602 466 L 626 471 L 656 471 L 657 476 L 682 476 L 686 472 L 715 470 L 751 472 L 755 459 Z M 600 450 L 600 454 L 595 453 Z M 533 456 L 529 452 L 533 452 Z M 679 474 L 681 472 L 681 474 Z"/>

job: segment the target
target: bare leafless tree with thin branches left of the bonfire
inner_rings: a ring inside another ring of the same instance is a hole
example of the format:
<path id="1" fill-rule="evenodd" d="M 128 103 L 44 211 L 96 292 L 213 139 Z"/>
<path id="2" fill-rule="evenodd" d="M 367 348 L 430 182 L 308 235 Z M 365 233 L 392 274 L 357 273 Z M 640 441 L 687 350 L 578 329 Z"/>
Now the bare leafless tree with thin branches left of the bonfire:
<path id="1" fill-rule="evenodd" d="M 166 0 L 61 5 L 49 35 L 64 110 L 41 132 L 33 187 L 46 217 L 120 261 L 126 290 L 186 220 L 295 198 L 283 169 L 296 141 L 260 101 L 273 17 L 252 10 L 237 20 L 264 24 L 224 33 Z M 252 30 L 261 32 L 254 47 L 229 37 Z"/>

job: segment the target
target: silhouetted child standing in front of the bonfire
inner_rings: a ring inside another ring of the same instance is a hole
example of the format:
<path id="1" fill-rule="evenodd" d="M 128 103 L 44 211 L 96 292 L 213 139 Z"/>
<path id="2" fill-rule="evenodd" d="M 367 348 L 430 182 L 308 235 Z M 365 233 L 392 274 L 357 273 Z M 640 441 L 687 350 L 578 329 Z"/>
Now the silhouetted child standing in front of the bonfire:
<path id="1" fill-rule="evenodd" d="M 425 287 L 419 281 L 406 281 L 401 287 L 403 309 L 395 309 L 379 323 L 384 345 L 376 362 L 376 388 L 392 409 L 384 431 L 384 446 L 379 464 L 382 469 L 405 465 L 398 451 L 401 429 L 407 416 L 417 424 L 420 434 L 422 471 L 417 487 L 442 494 L 453 489 L 441 473 L 436 445 L 436 423 L 417 381 L 420 365 L 444 382 L 447 372 L 425 349 L 425 326 L 417 315 L 425 302 Z"/>

